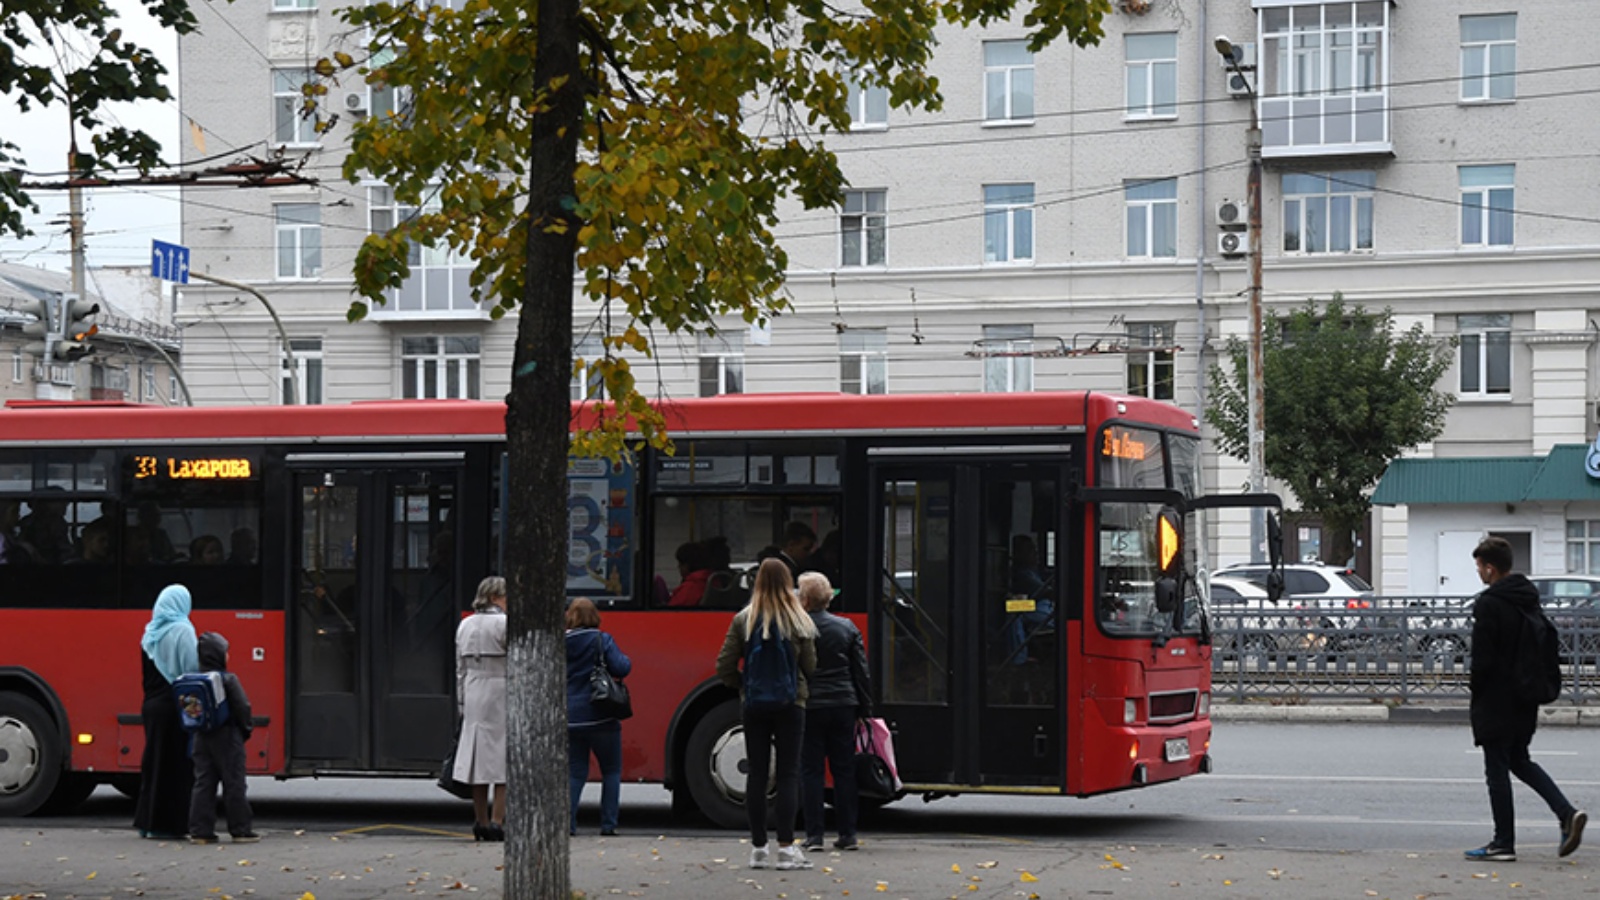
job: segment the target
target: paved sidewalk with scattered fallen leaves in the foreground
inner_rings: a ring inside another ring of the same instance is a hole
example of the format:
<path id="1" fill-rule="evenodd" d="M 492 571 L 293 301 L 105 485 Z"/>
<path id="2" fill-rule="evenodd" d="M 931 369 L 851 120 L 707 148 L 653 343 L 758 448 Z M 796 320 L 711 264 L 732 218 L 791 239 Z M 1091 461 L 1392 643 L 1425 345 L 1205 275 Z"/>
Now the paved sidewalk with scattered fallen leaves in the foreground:
<path id="1" fill-rule="evenodd" d="M 1592 852 L 1590 852 L 1592 854 Z M 808 871 L 746 868 L 738 836 L 594 838 L 571 844 L 573 889 L 643 898 L 1357 898 L 1592 894 L 1590 855 L 1530 847 L 1518 863 L 1458 852 L 1318 852 L 997 838 L 867 836 L 861 852 L 813 854 Z M 0 828 L 0 897 L 282 898 L 501 897 L 502 846 L 443 831 L 267 834 L 197 847 L 128 831 Z"/>

